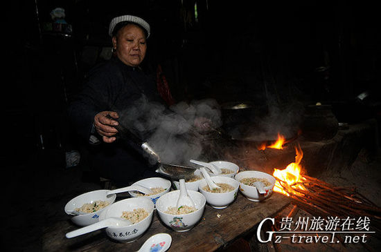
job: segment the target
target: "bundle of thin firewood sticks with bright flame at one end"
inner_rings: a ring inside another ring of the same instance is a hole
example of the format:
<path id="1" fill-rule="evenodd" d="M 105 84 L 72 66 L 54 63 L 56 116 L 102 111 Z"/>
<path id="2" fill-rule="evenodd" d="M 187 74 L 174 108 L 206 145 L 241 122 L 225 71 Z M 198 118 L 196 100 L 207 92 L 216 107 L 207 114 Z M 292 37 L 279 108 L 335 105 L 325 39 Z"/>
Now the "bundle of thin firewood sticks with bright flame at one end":
<path id="1" fill-rule="evenodd" d="M 283 170 L 274 169 L 274 191 L 292 198 L 299 208 L 321 217 L 370 217 L 372 226 L 381 229 L 381 208 L 357 192 L 353 186 L 334 186 L 308 175 L 301 175 L 303 157 L 296 148 L 295 162 Z M 376 232 L 378 233 L 378 232 Z"/>

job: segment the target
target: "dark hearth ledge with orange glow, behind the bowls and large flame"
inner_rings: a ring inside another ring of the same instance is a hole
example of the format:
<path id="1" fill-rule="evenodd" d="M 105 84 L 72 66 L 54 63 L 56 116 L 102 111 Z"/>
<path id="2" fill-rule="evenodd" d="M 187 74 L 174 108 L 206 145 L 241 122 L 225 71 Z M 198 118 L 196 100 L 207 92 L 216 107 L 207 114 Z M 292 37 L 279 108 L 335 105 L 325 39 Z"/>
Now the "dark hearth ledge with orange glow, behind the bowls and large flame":
<path id="1" fill-rule="evenodd" d="M 239 142 L 233 145 L 224 140 L 218 146 L 224 146 L 220 153 L 210 153 L 213 159 L 235 162 L 241 169 L 264 171 L 272 174 L 274 168 L 283 169 L 295 161 L 295 147 L 299 144 L 303 151 L 301 165 L 305 173 L 319 177 L 321 173 L 336 173 L 351 166 L 357 155 L 371 159 L 378 148 L 378 125 L 375 120 L 361 124 L 350 124 L 339 128 L 332 139 L 310 142 L 301 134 L 283 146 L 283 149 L 266 148 L 258 150 L 251 142 Z M 207 155 L 206 155 L 207 156 Z M 207 157 L 205 157 L 207 159 Z"/>

